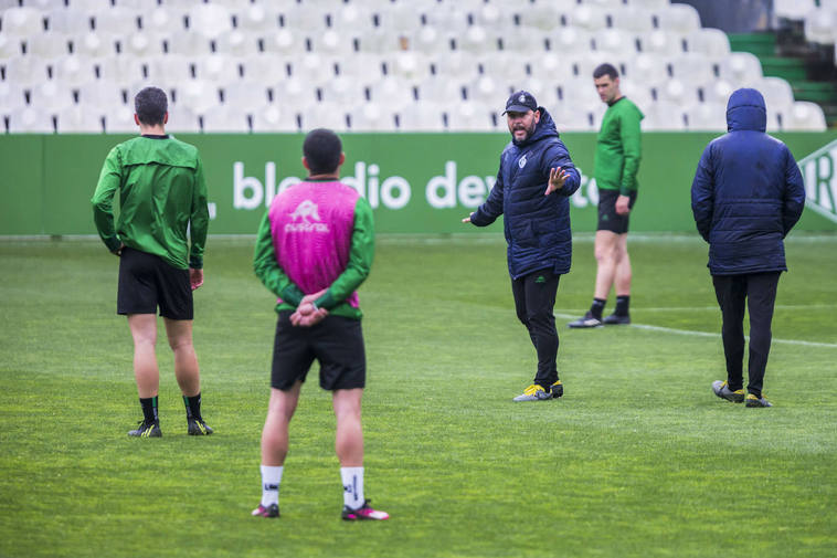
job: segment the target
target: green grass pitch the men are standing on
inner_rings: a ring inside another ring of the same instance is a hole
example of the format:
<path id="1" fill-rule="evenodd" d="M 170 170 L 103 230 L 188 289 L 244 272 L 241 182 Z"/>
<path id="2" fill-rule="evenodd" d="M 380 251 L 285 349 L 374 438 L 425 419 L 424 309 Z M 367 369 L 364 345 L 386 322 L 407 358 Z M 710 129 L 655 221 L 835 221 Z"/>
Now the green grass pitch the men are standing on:
<path id="1" fill-rule="evenodd" d="M 339 519 L 316 369 L 283 517 L 250 516 L 275 325 L 252 245 L 210 239 L 195 296 L 216 434 L 186 435 L 161 329 L 163 438 L 137 440 L 116 259 L 94 240 L 0 242 L 0 556 L 837 556 L 837 236 L 787 241 L 773 409 L 711 393 L 720 313 L 696 235 L 634 235 L 635 326 L 580 331 L 565 324 L 590 303 L 595 262 L 592 236 L 575 239 L 555 305 L 566 391 L 537 403 L 511 402 L 536 362 L 502 239 L 379 238 L 360 292 L 367 496 L 392 519 L 363 524 Z"/>

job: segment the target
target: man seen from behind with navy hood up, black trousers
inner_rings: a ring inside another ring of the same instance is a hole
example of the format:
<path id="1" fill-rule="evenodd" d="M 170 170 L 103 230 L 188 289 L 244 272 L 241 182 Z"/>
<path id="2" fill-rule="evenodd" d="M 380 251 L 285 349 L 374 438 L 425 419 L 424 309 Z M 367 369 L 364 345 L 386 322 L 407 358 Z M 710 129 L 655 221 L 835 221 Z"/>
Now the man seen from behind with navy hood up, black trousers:
<path id="1" fill-rule="evenodd" d="M 727 105 L 728 133 L 709 143 L 691 185 L 698 232 L 709 242 L 723 318 L 727 381 L 714 393 L 746 407 L 771 407 L 762 393 L 778 276 L 787 271 L 784 238 L 805 204 L 799 168 L 787 147 L 764 133 L 766 110 L 755 90 L 735 91 Z M 748 394 L 743 390 L 744 303 L 750 310 Z"/>

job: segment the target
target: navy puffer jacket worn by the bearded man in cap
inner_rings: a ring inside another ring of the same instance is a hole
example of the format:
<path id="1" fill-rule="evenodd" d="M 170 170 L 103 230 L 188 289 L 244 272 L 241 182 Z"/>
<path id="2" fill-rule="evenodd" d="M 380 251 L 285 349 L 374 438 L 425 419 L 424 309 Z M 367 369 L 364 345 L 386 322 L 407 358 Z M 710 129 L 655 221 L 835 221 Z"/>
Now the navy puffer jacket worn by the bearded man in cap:
<path id="1" fill-rule="evenodd" d="M 570 271 L 572 231 L 570 200 L 581 178 L 558 137 L 555 123 L 543 108 L 534 133 L 520 144 L 511 141 L 500 155 L 500 170 L 488 199 L 470 217 L 477 227 L 504 215 L 509 274 L 519 278 L 540 270 Z M 552 168 L 569 177 L 563 188 L 544 196 Z"/>

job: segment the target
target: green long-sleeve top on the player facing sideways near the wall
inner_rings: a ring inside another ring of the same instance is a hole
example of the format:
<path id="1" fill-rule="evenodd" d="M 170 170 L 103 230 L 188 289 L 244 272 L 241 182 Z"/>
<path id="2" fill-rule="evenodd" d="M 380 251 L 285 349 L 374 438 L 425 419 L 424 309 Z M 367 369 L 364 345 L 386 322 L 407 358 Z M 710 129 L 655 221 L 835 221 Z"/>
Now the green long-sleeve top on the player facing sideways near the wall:
<path id="1" fill-rule="evenodd" d="M 639 122 L 643 118 L 643 113 L 627 97 L 619 97 L 607 107 L 596 138 L 597 188 L 618 190 L 624 196 L 638 188 L 636 172 L 642 158 Z"/>

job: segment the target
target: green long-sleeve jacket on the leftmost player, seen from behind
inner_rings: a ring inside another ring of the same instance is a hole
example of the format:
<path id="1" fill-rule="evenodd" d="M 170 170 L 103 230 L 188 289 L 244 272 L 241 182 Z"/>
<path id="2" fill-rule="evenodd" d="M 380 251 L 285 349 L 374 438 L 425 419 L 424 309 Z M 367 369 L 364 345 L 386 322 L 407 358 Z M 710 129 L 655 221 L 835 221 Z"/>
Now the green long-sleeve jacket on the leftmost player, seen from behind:
<path id="1" fill-rule="evenodd" d="M 194 146 L 170 136 L 139 136 L 117 145 L 105 159 L 91 202 L 96 229 L 112 252 L 123 243 L 181 270 L 203 267 L 209 208 Z"/>

